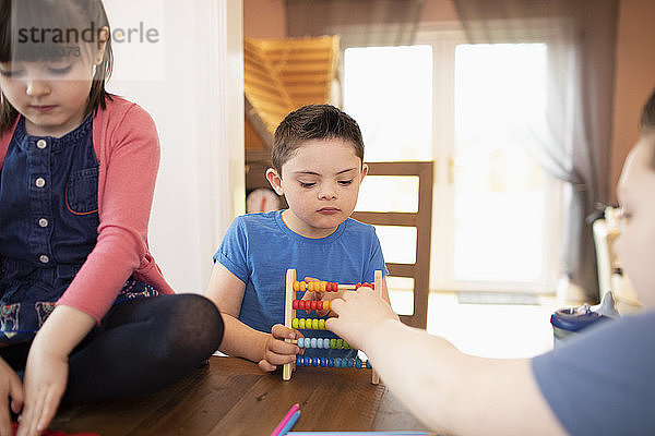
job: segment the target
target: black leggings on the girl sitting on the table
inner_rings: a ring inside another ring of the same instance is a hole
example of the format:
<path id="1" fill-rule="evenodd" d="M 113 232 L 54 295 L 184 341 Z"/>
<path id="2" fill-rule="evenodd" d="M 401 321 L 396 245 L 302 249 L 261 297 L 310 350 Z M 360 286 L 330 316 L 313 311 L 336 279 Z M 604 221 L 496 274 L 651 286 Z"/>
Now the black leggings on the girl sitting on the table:
<path id="1" fill-rule="evenodd" d="M 223 318 L 198 294 L 159 295 L 114 306 L 69 358 L 63 403 L 154 392 L 202 365 L 223 339 Z M 31 343 L 0 349 L 15 371 Z"/>

